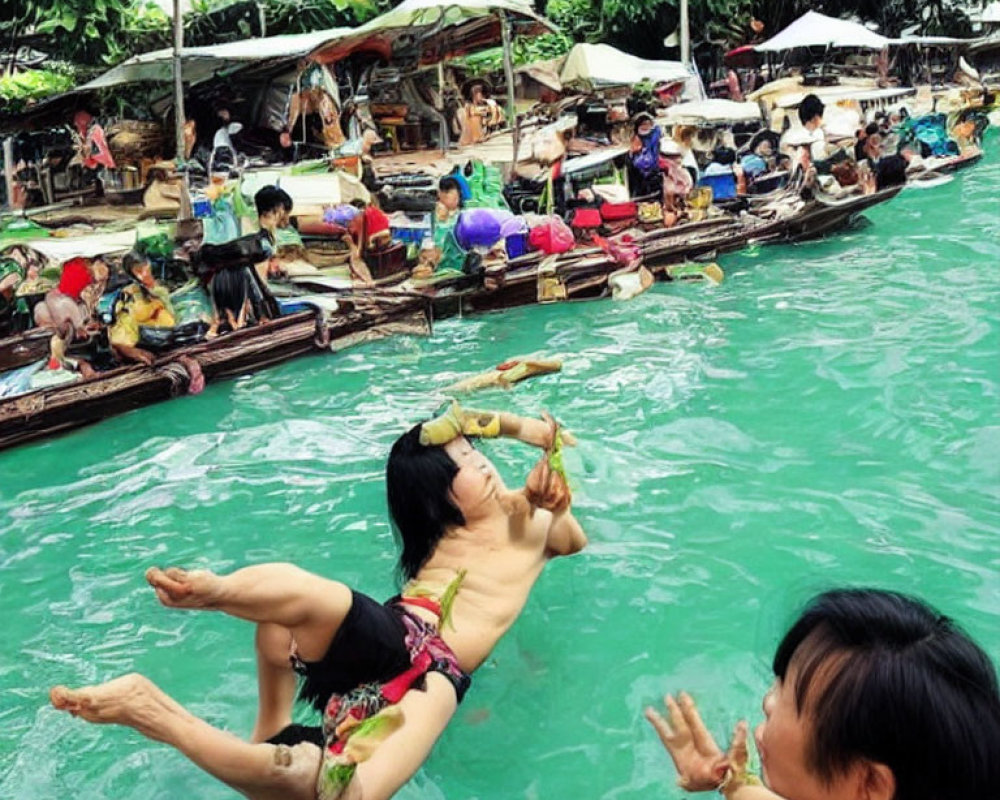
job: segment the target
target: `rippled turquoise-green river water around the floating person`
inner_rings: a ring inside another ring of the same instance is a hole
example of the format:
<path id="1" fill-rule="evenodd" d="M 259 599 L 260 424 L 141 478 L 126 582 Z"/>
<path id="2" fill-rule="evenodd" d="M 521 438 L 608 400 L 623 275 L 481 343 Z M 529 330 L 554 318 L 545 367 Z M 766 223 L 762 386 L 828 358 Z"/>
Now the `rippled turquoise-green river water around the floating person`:
<path id="1" fill-rule="evenodd" d="M 1000 141 L 825 241 L 723 261 L 718 288 L 525 308 L 317 356 L 0 454 L 0 797 L 227 798 L 132 731 L 46 705 L 138 670 L 245 735 L 250 626 L 160 608 L 151 564 L 289 560 L 393 591 L 390 443 L 435 387 L 511 355 L 552 409 L 587 551 L 553 562 L 404 800 L 674 798 L 642 720 L 687 688 L 756 720 L 811 593 L 918 593 L 1000 659 Z M 489 443 L 509 481 L 532 452 Z"/>

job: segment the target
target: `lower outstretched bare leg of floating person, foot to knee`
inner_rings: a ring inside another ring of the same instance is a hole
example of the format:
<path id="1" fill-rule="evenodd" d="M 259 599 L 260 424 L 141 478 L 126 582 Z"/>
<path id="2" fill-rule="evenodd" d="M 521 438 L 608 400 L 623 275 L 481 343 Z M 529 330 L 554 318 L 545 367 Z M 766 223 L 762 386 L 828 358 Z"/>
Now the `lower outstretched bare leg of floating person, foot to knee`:
<path id="1" fill-rule="evenodd" d="M 313 800 L 320 748 L 251 744 L 194 716 L 142 675 L 49 693 L 52 705 L 97 724 L 125 725 L 175 747 L 251 800 Z"/>

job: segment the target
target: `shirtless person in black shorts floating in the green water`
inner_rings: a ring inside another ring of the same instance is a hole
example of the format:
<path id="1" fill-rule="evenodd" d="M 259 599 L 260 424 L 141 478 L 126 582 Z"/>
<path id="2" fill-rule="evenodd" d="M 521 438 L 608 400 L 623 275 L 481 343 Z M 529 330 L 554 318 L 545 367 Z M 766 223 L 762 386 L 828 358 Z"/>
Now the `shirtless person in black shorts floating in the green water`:
<path id="1" fill-rule="evenodd" d="M 509 436 L 545 454 L 511 491 L 463 434 Z M 406 583 L 385 604 L 290 564 L 229 575 L 150 569 L 165 606 L 257 624 L 259 710 L 249 742 L 140 675 L 57 686 L 52 704 L 172 745 L 252 800 L 392 796 L 427 758 L 546 561 L 586 545 L 561 476 L 568 439 L 548 418 L 457 407 L 400 437 L 386 485 Z M 296 672 L 321 727 L 291 724 Z"/>

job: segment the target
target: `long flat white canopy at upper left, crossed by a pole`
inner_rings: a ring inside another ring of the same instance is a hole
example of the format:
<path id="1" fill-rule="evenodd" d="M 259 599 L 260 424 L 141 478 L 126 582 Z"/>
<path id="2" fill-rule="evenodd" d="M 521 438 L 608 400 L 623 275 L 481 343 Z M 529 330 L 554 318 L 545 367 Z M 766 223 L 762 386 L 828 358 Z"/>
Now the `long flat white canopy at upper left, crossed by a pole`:
<path id="1" fill-rule="evenodd" d="M 181 51 L 184 82 L 189 85 L 208 80 L 216 72 L 246 66 L 253 62 L 304 58 L 321 44 L 350 34 L 353 28 L 330 28 L 312 33 L 285 36 L 268 36 L 263 39 L 244 39 L 228 44 L 205 47 L 185 47 Z M 168 82 L 173 80 L 173 48 L 166 47 L 150 53 L 140 53 L 117 67 L 85 83 L 78 91 L 104 89 L 122 83 L 138 81 Z"/>

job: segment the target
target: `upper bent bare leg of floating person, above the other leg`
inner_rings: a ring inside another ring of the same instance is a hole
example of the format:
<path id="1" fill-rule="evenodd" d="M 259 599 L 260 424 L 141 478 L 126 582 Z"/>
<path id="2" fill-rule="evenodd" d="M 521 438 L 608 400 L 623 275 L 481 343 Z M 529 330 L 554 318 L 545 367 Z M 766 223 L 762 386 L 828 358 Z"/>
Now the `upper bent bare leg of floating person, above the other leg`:
<path id="1" fill-rule="evenodd" d="M 287 628 L 303 661 L 323 658 L 353 602 L 345 584 L 292 564 L 259 564 L 229 575 L 153 567 L 146 580 L 165 606 L 216 609 Z"/>

